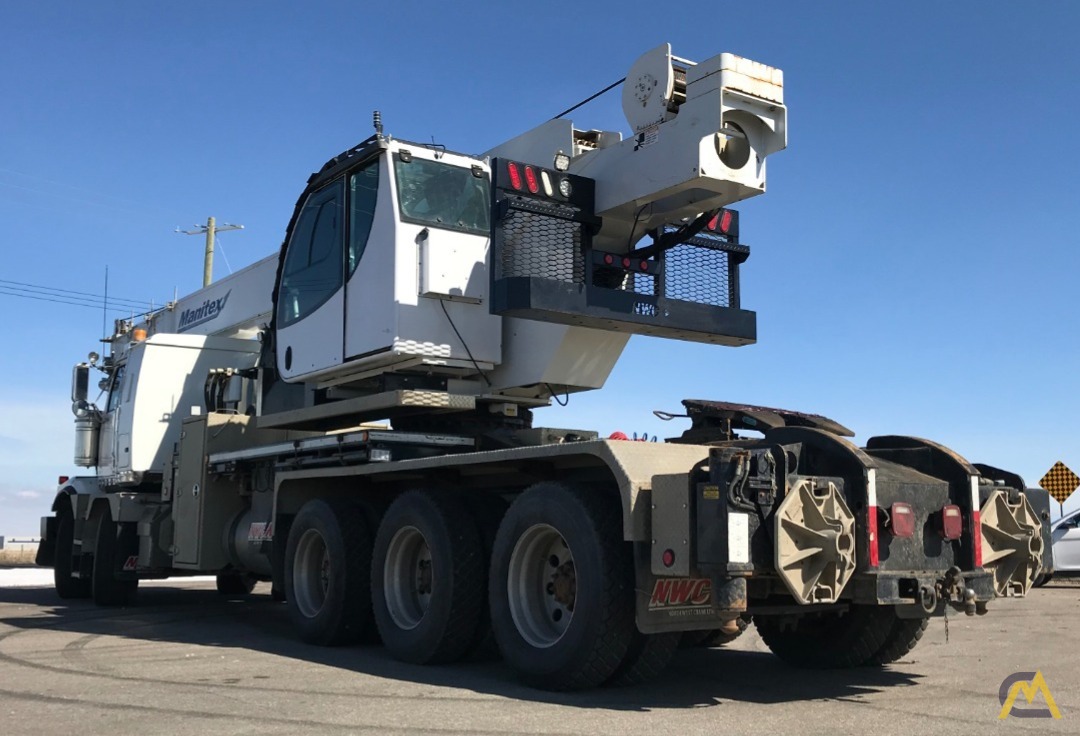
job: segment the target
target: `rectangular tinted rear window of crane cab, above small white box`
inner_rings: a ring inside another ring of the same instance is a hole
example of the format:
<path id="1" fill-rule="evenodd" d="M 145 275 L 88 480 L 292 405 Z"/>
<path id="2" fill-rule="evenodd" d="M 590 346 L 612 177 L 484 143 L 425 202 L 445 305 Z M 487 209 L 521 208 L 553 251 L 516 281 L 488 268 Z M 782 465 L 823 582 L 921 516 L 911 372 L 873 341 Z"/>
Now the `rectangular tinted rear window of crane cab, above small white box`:
<path id="1" fill-rule="evenodd" d="M 489 226 L 487 174 L 442 161 L 394 157 L 402 219 L 486 236 Z"/>

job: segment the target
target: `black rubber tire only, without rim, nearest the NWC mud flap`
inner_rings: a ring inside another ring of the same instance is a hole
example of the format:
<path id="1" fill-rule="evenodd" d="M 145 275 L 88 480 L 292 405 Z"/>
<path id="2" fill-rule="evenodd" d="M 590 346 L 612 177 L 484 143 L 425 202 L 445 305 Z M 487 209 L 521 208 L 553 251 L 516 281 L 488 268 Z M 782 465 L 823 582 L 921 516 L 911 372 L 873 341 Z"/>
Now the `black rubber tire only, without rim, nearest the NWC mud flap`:
<path id="1" fill-rule="evenodd" d="M 508 597 L 510 559 L 536 524 L 554 527 L 573 556 L 577 598 L 563 635 L 550 646 L 529 644 L 518 632 Z M 517 497 L 499 525 L 489 575 L 491 628 L 502 656 L 529 685 L 572 691 L 595 687 L 626 658 L 634 626 L 634 570 L 622 538 L 622 504 L 616 493 L 543 482 Z"/>

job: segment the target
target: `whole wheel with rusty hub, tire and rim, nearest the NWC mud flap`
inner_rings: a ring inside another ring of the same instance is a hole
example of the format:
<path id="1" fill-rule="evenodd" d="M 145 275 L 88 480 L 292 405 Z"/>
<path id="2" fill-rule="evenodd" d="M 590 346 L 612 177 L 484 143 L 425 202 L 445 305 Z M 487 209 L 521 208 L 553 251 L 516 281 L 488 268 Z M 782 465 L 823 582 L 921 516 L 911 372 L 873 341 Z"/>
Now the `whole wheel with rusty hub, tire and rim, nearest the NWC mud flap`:
<path id="1" fill-rule="evenodd" d="M 491 552 L 491 627 L 503 658 L 545 690 L 608 680 L 634 626 L 634 571 L 617 495 L 545 482 L 511 505 Z"/>

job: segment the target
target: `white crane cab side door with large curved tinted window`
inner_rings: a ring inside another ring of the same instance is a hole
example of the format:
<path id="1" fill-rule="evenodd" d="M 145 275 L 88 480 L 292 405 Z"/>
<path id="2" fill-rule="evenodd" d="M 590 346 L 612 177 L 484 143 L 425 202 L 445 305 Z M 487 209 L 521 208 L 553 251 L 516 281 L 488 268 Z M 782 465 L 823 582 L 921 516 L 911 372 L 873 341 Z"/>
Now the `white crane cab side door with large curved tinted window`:
<path id="1" fill-rule="evenodd" d="M 345 187 L 311 192 L 285 250 L 278 286 L 278 371 L 286 380 L 341 364 L 345 347 Z"/>

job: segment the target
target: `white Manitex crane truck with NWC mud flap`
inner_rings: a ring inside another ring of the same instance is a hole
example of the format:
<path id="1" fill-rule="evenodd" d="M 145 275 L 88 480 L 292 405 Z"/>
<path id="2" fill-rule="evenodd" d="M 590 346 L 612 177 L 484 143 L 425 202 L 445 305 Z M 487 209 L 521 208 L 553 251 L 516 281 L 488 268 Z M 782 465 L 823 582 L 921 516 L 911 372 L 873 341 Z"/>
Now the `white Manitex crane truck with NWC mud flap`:
<path id="1" fill-rule="evenodd" d="M 59 597 L 270 581 L 307 642 L 377 632 L 419 664 L 494 643 L 572 690 L 751 621 L 796 666 L 885 665 L 932 616 L 1024 596 L 1038 501 L 934 442 L 689 399 L 664 442 L 534 424 L 603 387 L 631 335 L 756 339 L 730 205 L 786 147 L 781 70 L 664 44 L 622 106 L 626 137 L 558 117 L 480 156 L 376 113 L 280 252 L 118 321 L 72 373 L 95 471 L 42 520 Z"/>

